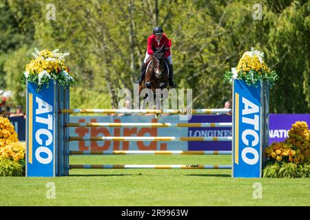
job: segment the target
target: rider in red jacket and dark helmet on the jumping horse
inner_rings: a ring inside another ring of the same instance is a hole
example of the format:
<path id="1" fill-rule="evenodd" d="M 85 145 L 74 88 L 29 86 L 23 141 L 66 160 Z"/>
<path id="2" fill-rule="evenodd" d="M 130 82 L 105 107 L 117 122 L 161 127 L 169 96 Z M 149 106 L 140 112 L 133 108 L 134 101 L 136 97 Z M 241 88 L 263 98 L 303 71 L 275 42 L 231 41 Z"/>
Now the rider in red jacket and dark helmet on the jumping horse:
<path id="1" fill-rule="evenodd" d="M 163 28 L 159 26 L 153 28 L 153 34 L 147 38 L 147 52 L 145 54 L 144 61 L 141 65 L 141 75 L 138 78 L 138 80 L 136 80 L 136 83 L 139 83 L 141 85 L 143 79 L 145 78 L 145 62 L 147 61 L 149 56 L 151 56 L 154 53 L 154 51 L 156 51 L 156 49 L 161 48 L 163 44 L 165 44 L 164 46 L 166 51 L 165 58 L 169 63 L 169 78 L 168 78 L 169 87 L 170 88 L 176 87 L 176 83 L 174 83 L 174 70 L 172 67 L 172 58 L 170 54 L 171 41 L 167 38 L 167 36 L 163 34 Z"/>

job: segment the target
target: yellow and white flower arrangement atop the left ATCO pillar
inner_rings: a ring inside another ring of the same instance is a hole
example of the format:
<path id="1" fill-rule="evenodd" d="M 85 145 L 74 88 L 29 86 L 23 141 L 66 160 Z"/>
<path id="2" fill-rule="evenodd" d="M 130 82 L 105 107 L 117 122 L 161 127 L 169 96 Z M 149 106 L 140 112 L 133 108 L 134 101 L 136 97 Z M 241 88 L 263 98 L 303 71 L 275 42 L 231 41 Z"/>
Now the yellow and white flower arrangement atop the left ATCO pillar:
<path id="1" fill-rule="evenodd" d="M 59 50 L 39 51 L 34 48 L 35 53 L 32 53 L 34 59 L 26 65 L 25 72 L 21 78 L 23 86 L 26 81 L 36 83 L 37 91 L 41 90 L 43 85 L 48 86 L 50 79 L 56 80 L 63 87 L 72 87 L 76 81 L 70 76 L 70 70 L 65 66 L 65 56 L 69 53 L 59 53 Z"/>

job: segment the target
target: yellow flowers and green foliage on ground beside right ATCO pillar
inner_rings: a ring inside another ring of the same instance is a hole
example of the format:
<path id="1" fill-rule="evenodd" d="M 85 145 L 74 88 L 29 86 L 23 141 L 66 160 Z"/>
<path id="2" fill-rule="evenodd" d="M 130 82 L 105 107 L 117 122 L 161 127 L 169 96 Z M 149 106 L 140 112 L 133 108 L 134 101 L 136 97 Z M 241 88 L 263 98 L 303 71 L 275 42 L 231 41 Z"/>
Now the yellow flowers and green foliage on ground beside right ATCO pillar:
<path id="1" fill-rule="evenodd" d="M 267 177 L 310 177 L 310 131 L 307 122 L 296 122 L 285 142 L 265 149 Z"/>

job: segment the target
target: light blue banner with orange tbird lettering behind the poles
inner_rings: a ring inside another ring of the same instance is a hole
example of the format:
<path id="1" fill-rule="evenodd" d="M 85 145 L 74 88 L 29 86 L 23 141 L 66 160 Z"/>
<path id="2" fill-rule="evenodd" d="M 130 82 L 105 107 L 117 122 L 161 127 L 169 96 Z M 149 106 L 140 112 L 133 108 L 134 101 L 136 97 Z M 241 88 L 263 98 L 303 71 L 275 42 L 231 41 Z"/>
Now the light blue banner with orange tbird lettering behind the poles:
<path id="1" fill-rule="evenodd" d="M 171 122 L 184 123 L 178 115 L 101 115 L 101 116 L 70 116 L 70 122 Z M 71 137 L 101 136 L 145 136 L 145 137 L 186 137 L 185 127 L 70 127 Z M 172 151 L 187 150 L 187 142 L 111 142 L 111 141 L 72 141 L 70 151 Z"/>

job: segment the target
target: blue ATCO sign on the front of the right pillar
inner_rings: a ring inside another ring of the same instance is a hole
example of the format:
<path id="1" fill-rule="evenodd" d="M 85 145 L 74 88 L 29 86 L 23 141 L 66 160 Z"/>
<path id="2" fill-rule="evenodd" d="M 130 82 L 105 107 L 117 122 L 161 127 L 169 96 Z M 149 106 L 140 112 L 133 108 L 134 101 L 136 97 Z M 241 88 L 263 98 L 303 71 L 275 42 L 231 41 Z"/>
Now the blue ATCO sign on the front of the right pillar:
<path id="1" fill-rule="evenodd" d="M 261 177 L 262 86 L 234 80 L 233 177 Z"/>

